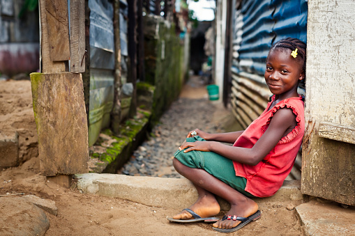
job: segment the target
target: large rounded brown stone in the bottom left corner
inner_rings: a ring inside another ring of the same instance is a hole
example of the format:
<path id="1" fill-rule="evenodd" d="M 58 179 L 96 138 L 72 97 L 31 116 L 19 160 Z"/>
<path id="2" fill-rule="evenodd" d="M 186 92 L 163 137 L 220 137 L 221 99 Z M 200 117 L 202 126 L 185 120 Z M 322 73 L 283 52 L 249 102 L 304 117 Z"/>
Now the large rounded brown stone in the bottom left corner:
<path id="1" fill-rule="evenodd" d="M 1 235 L 45 235 L 50 221 L 45 212 L 21 197 L 0 197 Z"/>

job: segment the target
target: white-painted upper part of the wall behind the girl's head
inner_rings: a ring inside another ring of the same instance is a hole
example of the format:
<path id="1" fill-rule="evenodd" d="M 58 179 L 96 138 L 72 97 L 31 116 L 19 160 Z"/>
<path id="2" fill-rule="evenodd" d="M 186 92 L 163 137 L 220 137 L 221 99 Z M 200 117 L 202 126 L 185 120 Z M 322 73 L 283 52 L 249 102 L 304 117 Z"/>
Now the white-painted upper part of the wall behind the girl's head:
<path id="1" fill-rule="evenodd" d="M 306 118 L 355 127 L 355 1 L 309 1 Z"/>

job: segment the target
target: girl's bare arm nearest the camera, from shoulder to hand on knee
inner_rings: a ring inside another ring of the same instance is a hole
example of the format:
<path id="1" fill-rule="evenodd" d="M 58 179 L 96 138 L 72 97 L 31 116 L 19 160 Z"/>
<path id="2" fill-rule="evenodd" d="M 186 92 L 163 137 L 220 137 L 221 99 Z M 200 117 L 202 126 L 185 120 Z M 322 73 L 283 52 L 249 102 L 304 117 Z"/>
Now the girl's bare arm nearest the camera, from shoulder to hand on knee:
<path id="1" fill-rule="evenodd" d="M 233 161 L 256 165 L 262 161 L 275 145 L 285 136 L 289 127 L 294 128 L 295 115 L 292 109 L 279 109 L 275 112 L 268 129 L 252 148 L 241 148 L 225 145 L 215 141 L 196 141 L 194 143 L 183 143 L 180 149 L 187 148 L 184 152 L 191 150 L 212 151 Z"/>

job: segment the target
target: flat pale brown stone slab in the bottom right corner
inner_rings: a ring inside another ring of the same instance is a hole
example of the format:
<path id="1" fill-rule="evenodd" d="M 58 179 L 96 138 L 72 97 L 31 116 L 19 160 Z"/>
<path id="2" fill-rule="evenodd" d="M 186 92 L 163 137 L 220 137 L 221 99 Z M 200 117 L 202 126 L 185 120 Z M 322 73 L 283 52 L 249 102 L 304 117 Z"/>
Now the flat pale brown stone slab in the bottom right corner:
<path id="1" fill-rule="evenodd" d="M 296 207 L 305 235 L 354 235 L 355 210 L 312 200 Z"/>

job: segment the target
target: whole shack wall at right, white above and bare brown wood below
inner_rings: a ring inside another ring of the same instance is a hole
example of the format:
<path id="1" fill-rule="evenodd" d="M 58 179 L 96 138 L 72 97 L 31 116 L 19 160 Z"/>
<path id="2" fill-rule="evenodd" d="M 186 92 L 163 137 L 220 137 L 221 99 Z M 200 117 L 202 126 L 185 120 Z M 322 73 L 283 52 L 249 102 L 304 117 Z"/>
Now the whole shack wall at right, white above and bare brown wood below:
<path id="1" fill-rule="evenodd" d="M 308 7 L 301 191 L 355 205 L 355 2 L 315 0 Z"/>

